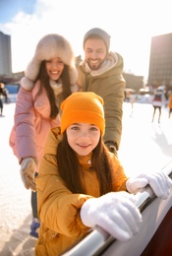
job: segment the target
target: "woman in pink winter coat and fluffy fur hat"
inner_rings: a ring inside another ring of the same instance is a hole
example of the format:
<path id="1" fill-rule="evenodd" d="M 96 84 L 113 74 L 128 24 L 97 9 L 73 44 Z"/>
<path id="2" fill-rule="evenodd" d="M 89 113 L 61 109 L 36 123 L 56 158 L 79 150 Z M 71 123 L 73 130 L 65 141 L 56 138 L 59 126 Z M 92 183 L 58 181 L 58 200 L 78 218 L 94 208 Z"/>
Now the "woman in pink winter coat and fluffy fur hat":
<path id="1" fill-rule="evenodd" d="M 45 35 L 38 42 L 25 75 L 16 102 L 10 146 L 21 164 L 25 187 L 35 191 L 34 175 L 39 170 L 48 132 L 60 125 L 60 103 L 78 91 L 72 46 L 62 35 Z M 39 220 L 34 192 L 31 208 L 30 234 L 37 237 Z"/>

